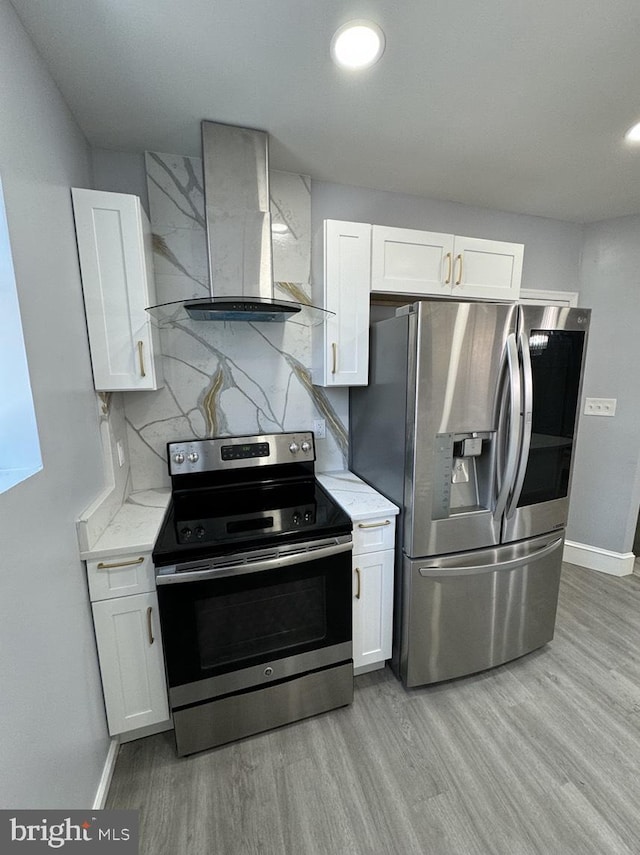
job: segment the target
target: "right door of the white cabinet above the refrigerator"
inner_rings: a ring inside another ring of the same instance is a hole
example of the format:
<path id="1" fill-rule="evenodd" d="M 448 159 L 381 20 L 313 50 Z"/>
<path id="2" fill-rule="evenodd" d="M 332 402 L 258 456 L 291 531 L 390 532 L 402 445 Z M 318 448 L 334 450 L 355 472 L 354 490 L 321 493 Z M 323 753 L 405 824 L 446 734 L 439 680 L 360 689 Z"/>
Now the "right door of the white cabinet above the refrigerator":
<path id="1" fill-rule="evenodd" d="M 456 236 L 453 253 L 453 297 L 518 299 L 523 244 Z"/>

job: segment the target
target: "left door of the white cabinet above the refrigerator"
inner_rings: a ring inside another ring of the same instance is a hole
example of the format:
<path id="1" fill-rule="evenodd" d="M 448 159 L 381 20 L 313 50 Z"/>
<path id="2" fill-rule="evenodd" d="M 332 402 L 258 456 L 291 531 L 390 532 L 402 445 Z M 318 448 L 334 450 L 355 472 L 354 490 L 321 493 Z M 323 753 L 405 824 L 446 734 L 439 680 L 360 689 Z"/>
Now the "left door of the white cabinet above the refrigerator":
<path id="1" fill-rule="evenodd" d="M 453 235 L 373 226 L 371 242 L 372 291 L 451 293 Z"/>

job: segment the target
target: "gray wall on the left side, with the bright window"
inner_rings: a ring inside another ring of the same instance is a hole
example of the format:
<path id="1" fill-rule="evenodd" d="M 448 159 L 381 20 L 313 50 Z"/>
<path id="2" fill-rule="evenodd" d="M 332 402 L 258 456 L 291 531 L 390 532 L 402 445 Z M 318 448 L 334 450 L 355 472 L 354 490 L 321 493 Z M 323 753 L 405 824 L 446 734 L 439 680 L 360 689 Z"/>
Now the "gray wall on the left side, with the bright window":
<path id="1" fill-rule="evenodd" d="M 0 808 L 93 803 L 107 737 L 74 520 L 102 487 L 69 187 L 89 154 L 0 0 L 0 173 L 44 469 L 0 495 Z"/>

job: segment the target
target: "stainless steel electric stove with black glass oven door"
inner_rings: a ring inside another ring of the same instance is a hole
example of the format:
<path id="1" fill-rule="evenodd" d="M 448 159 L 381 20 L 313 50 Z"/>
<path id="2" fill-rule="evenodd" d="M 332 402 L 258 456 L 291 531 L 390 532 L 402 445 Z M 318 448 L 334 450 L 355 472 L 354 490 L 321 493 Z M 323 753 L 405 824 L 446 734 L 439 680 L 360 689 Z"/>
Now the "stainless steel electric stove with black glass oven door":
<path id="1" fill-rule="evenodd" d="M 313 434 L 167 451 L 153 561 L 178 754 L 351 703 L 352 524 Z"/>

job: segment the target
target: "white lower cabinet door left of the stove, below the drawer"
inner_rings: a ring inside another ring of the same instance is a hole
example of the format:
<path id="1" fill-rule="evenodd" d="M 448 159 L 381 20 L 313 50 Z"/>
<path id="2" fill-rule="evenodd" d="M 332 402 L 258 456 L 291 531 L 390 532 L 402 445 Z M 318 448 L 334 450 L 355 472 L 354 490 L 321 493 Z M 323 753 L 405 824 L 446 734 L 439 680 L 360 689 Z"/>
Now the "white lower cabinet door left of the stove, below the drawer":
<path id="1" fill-rule="evenodd" d="M 93 603 L 109 733 L 169 718 L 155 592 Z"/>

